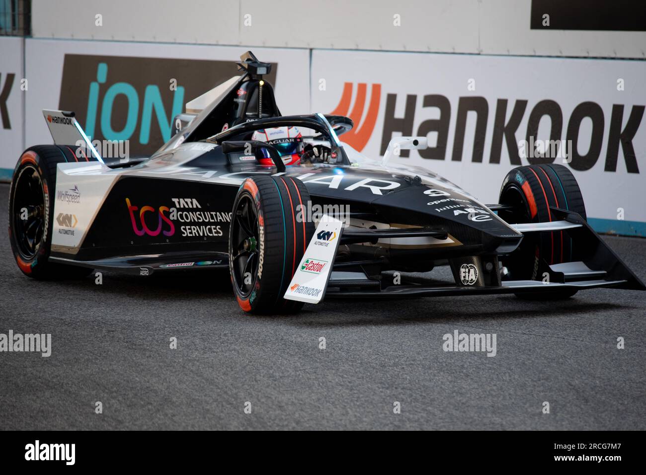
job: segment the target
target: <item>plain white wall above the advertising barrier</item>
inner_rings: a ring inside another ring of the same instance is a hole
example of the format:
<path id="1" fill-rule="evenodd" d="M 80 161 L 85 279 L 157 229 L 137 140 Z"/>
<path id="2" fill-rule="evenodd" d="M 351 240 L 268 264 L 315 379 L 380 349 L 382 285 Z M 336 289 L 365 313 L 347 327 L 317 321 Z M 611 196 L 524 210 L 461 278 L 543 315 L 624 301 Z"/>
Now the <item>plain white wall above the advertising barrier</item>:
<path id="1" fill-rule="evenodd" d="M 530 0 L 33 0 L 32 28 L 44 38 L 646 58 L 646 32 L 531 30 L 530 6 Z M 395 15 L 401 26 L 393 25 Z"/>

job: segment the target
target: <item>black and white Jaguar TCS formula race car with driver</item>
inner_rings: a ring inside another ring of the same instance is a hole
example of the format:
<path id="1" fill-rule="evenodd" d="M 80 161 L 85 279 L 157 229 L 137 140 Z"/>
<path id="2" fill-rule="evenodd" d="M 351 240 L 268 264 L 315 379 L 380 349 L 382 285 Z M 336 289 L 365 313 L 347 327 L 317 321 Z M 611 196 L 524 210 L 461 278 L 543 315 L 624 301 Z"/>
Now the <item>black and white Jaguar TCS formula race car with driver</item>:
<path id="1" fill-rule="evenodd" d="M 499 203 L 481 204 L 426 169 L 388 163 L 397 149 L 426 147 L 425 137 L 393 138 L 371 160 L 340 141 L 353 127 L 347 117 L 282 116 L 263 79 L 271 64 L 251 52 L 241 59 L 242 74 L 187 105 L 199 112 L 177 116 L 174 136 L 147 158 L 102 157 L 73 112 L 44 111 L 56 145 L 27 149 L 10 190 L 21 271 L 228 268 L 252 313 L 324 297 L 645 289 L 587 224 L 565 166 L 516 167 Z M 269 140 L 267 131 L 291 128 L 298 134 Z M 300 161 L 290 154 L 286 166 L 286 145 L 300 147 Z M 433 277 L 442 266 L 451 281 Z"/>

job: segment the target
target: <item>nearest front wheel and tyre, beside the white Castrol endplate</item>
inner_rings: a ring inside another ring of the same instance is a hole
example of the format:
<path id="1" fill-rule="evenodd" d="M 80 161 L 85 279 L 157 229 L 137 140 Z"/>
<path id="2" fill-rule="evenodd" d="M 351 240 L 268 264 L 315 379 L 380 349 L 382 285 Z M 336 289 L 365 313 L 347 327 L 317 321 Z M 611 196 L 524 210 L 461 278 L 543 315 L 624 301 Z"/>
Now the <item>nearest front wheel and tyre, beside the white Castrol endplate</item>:
<path id="1" fill-rule="evenodd" d="M 310 201 L 305 185 L 289 176 L 247 178 L 233 204 L 229 269 L 233 291 L 248 313 L 294 313 L 303 303 L 283 298 L 314 224 L 298 218 Z"/>

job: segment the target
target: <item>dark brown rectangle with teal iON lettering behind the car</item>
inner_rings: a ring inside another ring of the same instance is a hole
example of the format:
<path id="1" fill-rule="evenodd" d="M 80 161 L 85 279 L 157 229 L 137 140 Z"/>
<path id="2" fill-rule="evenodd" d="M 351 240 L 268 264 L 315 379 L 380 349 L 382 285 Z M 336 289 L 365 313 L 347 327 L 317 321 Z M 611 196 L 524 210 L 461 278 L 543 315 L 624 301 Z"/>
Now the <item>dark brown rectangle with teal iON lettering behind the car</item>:
<path id="1" fill-rule="evenodd" d="M 66 54 L 59 108 L 76 112 L 92 140 L 150 154 L 171 138 L 186 101 L 234 74 L 228 61 Z"/>

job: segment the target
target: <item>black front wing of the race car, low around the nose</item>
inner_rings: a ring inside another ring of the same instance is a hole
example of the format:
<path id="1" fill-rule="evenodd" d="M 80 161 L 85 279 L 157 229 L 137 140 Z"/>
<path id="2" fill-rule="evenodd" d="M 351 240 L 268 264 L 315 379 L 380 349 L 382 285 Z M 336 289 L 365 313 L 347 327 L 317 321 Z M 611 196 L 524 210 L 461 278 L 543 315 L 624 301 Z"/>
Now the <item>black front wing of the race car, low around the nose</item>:
<path id="1" fill-rule="evenodd" d="M 557 220 L 539 224 L 511 225 L 517 231 L 525 233 L 541 233 L 561 230 L 567 232 L 581 251 L 582 260 L 549 265 L 541 262 L 538 275 L 548 275 L 543 280 L 502 280 L 490 282 L 489 285 L 459 285 L 439 284 L 432 280 L 419 279 L 412 284 L 384 284 L 384 280 L 368 276 L 362 269 L 370 262 L 343 262 L 332 264 L 331 271 L 320 289 L 317 303 L 326 297 L 340 298 L 366 298 L 366 299 L 401 299 L 411 297 L 441 297 L 446 295 L 483 295 L 496 293 L 541 293 L 565 290 L 585 290 L 599 287 L 612 287 L 626 290 L 646 290 L 643 282 L 626 266 L 612 249 L 599 237 L 599 235 L 577 213 L 565 209 L 552 207 L 552 213 Z M 311 254 L 311 247 L 315 246 L 317 235 L 324 229 L 318 229 L 312 242 L 307 248 L 306 255 Z M 383 235 L 380 235 L 383 233 Z M 413 235 L 427 235 L 441 237 L 441 229 L 393 229 L 366 230 L 366 231 L 340 231 L 338 242 L 362 242 L 384 237 L 407 237 Z M 338 246 L 338 244 L 337 244 Z M 336 248 L 335 248 L 336 249 Z M 332 261 L 333 262 L 333 261 Z M 353 265 L 354 264 L 354 265 Z M 349 269 L 349 270 L 348 270 Z M 298 275 L 295 275 L 298 280 Z M 295 280 L 295 281 L 296 281 Z M 287 294 L 289 291 L 287 292 Z M 289 295 L 286 299 L 290 299 Z"/>

